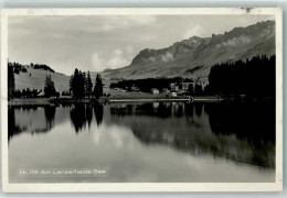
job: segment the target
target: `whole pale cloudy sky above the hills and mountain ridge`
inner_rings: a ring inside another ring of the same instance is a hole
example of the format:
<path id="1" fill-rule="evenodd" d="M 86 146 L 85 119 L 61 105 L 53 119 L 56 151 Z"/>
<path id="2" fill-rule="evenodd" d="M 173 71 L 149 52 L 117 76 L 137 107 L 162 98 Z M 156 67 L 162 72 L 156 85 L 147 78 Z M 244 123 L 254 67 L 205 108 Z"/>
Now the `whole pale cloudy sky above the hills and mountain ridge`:
<path id="1" fill-rule="evenodd" d="M 39 63 L 71 75 L 128 66 L 145 48 L 163 48 L 191 36 L 210 37 L 272 15 L 9 16 L 10 62 Z"/>

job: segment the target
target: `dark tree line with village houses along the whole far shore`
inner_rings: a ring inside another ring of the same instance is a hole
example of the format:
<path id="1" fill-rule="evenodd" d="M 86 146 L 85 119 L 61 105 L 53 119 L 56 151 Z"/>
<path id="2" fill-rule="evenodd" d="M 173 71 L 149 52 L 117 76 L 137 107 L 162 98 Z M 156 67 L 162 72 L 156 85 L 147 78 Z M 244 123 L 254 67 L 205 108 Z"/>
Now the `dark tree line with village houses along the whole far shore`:
<path id="1" fill-rule="evenodd" d="M 209 82 L 192 78 L 120 79 L 104 85 L 100 74 L 92 79 L 89 72 L 75 69 L 70 77 L 70 89 L 59 92 L 51 75 L 46 75 L 43 90 L 15 89 L 14 75 L 25 72 L 18 63 L 8 63 L 9 103 L 93 102 L 198 99 L 215 100 L 274 100 L 276 90 L 275 55 L 255 56 L 252 59 L 226 62 L 211 67 Z M 46 65 L 36 68 L 53 70 Z M 54 70 L 53 70 L 54 72 Z M 108 91 L 104 91 L 108 90 Z"/>

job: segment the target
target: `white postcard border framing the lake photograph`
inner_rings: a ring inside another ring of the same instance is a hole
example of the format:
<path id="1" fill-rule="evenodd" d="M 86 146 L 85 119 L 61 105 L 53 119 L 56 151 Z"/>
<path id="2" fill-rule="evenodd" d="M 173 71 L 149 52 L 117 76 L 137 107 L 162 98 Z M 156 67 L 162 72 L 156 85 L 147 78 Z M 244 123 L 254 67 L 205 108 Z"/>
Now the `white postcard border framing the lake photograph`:
<path id="1" fill-rule="evenodd" d="M 276 179 L 275 183 L 53 183 L 9 184 L 8 176 L 8 16 L 9 15 L 141 15 L 273 14 L 276 20 Z M 6 193 L 79 191 L 278 191 L 283 189 L 283 13 L 279 8 L 94 8 L 1 10 L 1 145 L 2 190 Z"/>

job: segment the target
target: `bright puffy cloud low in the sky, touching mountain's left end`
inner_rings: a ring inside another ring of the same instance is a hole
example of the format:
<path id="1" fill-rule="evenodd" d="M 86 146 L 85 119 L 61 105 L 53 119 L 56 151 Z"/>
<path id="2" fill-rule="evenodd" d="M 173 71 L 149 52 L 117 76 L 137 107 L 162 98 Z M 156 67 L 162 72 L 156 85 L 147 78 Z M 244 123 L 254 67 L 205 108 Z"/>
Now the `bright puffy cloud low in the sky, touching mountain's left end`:
<path id="1" fill-rule="evenodd" d="M 100 53 L 94 53 L 92 55 L 92 65 L 96 70 L 115 69 L 128 66 L 132 58 L 134 48 L 127 46 L 125 51 L 115 50 L 110 55 L 104 56 Z"/>

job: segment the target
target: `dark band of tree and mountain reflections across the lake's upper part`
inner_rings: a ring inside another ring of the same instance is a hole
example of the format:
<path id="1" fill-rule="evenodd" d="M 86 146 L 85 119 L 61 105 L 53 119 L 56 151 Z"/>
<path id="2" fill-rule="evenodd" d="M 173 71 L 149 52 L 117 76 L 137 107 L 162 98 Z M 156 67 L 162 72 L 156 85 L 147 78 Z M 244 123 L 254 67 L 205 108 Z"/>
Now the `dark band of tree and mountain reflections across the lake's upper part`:
<path id="1" fill-rule="evenodd" d="M 33 135 L 50 134 L 51 131 L 67 122 L 74 131 L 68 133 L 75 135 L 93 133 L 94 131 L 89 130 L 93 129 L 93 124 L 97 129 L 117 125 L 129 129 L 132 136 L 146 148 L 164 146 L 178 155 L 208 155 L 216 161 L 227 160 L 236 164 L 254 166 L 256 169 L 266 169 L 265 172 L 275 169 L 274 103 L 25 105 L 10 106 L 8 116 L 9 146 L 14 139 L 20 141 L 23 134 L 31 134 L 32 139 Z M 31 123 L 31 120 L 38 124 Z M 114 143 L 108 142 L 108 144 Z M 13 150 L 17 151 L 14 146 L 17 145 L 13 145 Z M 79 150 L 82 144 L 78 145 Z M 61 162 L 59 163 L 61 166 Z"/>

